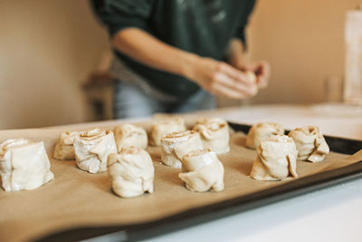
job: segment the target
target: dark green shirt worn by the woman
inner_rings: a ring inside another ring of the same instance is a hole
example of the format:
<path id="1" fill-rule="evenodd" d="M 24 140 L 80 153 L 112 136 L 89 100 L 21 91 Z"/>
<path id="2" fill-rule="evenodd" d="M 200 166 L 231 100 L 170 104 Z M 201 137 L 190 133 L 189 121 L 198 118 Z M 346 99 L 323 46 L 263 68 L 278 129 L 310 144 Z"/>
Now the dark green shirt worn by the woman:
<path id="1" fill-rule="evenodd" d="M 234 37 L 244 29 L 255 0 L 92 0 L 110 35 L 138 27 L 187 52 L 224 60 Z M 115 51 L 121 61 L 161 92 L 185 100 L 199 90 L 195 82 L 138 63 Z M 162 58 L 162 56 L 159 56 Z"/>

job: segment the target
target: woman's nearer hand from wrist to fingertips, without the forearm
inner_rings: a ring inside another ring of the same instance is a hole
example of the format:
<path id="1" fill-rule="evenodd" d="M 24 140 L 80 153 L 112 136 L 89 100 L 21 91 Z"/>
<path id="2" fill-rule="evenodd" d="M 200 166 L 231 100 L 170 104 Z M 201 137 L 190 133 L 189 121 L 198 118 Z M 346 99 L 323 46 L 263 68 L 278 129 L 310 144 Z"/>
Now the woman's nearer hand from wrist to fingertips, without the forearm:
<path id="1" fill-rule="evenodd" d="M 258 92 L 257 84 L 243 71 L 211 58 L 194 56 L 184 75 L 216 96 L 244 99 L 255 96 Z"/>

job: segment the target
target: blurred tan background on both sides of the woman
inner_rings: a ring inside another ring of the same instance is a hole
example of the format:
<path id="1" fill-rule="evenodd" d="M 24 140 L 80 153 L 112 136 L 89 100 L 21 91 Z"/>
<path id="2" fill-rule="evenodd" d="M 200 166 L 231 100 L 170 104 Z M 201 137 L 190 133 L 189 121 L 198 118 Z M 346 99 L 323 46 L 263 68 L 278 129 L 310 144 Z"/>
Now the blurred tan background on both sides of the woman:
<path id="1" fill-rule="evenodd" d="M 359 0 L 259 0 L 247 30 L 250 60 L 271 63 L 250 103 L 326 100 L 342 82 L 345 19 Z M 87 0 L 0 0 L 0 129 L 110 118 L 111 52 Z"/>

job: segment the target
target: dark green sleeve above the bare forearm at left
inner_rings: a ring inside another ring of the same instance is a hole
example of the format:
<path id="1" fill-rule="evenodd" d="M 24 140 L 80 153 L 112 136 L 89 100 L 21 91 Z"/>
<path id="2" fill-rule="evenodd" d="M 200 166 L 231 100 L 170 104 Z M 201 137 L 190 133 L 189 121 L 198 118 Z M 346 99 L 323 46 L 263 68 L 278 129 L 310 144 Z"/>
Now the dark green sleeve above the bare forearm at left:
<path id="1" fill-rule="evenodd" d="M 152 0 L 91 0 L 93 10 L 109 30 L 110 36 L 120 30 L 137 27 L 148 29 L 148 18 L 152 11 Z"/>

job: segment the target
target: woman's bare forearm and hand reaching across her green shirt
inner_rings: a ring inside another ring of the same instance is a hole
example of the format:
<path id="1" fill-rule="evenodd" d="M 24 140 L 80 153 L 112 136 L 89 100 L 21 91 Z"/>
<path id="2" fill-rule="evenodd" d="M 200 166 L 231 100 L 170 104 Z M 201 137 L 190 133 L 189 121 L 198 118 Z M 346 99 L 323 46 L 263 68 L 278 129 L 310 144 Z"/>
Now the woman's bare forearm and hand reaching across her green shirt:
<path id="1" fill-rule="evenodd" d="M 113 45 L 119 52 L 139 63 L 183 75 L 217 96 L 244 99 L 258 92 L 257 83 L 249 79 L 243 70 L 238 70 L 238 67 L 180 50 L 138 28 L 119 31 L 113 37 Z M 264 73 L 264 69 L 257 70 L 254 66 L 247 68 Z"/>

